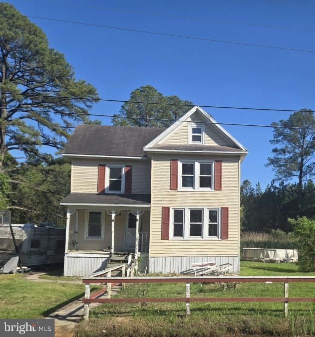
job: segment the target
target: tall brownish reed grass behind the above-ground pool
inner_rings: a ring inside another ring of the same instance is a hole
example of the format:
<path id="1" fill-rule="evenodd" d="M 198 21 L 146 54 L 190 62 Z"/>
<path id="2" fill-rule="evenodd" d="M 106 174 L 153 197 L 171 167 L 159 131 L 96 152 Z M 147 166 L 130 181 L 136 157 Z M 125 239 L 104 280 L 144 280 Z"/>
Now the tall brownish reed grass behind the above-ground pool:
<path id="1" fill-rule="evenodd" d="M 241 232 L 240 248 L 296 248 L 292 233 L 272 230 L 271 233 Z"/>

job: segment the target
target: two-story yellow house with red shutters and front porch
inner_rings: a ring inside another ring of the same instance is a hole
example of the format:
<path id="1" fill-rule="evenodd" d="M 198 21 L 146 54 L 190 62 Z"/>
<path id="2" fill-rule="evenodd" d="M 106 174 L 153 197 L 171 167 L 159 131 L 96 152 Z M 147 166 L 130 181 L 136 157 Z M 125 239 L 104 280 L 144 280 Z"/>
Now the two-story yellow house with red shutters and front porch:
<path id="1" fill-rule="evenodd" d="M 149 272 L 192 263 L 239 271 L 240 163 L 247 149 L 200 107 L 170 127 L 79 125 L 72 160 L 65 275 L 87 275 L 110 254 L 142 256 Z"/>

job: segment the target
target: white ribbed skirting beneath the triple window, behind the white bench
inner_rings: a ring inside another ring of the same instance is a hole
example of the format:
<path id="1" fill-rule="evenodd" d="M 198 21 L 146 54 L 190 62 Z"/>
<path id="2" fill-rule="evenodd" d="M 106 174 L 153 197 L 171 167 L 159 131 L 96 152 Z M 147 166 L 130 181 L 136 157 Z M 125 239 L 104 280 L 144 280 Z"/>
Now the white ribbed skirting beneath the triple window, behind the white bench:
<path id="1" fill-rule="evenodd" d="M 239 256 L 158 256 L 149 257 L 150 273 L 180 273 L 191 269 L 192 263 L 215 261 L 217 265 L 231 263 L 233 272 L 239 272 Z"/>

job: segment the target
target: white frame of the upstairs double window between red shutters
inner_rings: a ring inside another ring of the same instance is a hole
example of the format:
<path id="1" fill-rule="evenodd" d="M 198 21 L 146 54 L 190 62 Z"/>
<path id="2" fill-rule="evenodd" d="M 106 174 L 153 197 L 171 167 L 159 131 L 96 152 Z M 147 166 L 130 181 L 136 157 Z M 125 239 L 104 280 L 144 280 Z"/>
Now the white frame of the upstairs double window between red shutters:
<path id="1" fill-rule="evenodd" d="M 193 187 L 182 187 L 182 164 L 194 164 Z M 211 187 L 200 187 L 200 164 L 211 164 Z M 178 160 L 177 191 L 214 192 L 214 160 Z"/>

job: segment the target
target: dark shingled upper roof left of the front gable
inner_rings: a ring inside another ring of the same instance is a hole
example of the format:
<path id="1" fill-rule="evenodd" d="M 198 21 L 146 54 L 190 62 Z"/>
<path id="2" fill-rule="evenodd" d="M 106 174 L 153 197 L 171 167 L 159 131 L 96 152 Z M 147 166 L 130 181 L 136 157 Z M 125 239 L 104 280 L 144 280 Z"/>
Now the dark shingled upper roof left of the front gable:
<path id="1" fill-rule="evenodd" d="M 78 125 L 64 154 L 143 157 L 143 147 L 164 130 L 159 127 Z"/>

